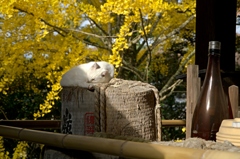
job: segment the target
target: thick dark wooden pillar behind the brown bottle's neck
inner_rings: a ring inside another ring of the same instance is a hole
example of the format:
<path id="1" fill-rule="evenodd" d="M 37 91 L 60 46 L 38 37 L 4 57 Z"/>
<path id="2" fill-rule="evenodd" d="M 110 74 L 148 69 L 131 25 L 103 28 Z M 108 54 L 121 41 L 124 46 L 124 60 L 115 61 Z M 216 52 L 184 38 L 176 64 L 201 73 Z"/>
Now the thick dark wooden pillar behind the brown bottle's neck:
<path id="1" fill-rule="evenodd" d="M 235 71 L 236 0 L 196 1 L 196 56 L 199 70 L 206 69 L 208 42 L 222 43 L 221 69 Z"/>

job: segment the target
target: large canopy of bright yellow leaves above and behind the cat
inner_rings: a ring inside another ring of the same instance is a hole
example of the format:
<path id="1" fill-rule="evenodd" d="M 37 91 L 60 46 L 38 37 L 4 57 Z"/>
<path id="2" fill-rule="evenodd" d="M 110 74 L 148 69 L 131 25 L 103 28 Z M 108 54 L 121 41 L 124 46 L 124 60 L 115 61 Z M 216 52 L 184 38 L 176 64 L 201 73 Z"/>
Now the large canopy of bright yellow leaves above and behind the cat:
<path id="1" fill-rule="evenodd" d="M 118 68 L 122 66 L 125 50 L 132 45 L 131 40 L 143 39 L 144 31 L 150 33 L 156 15 L 162 18 L 151 35 L 161 38 L 195 14 L 192 0 L 184 0 L 182 4 L 163 0 L 107 0 L 103 4 L 93 1 L 93 4 L 78 0 L 0 1 L 0 92 L 7 95 L 15 79 L 27 76 L 29 83 L 25 88 L 39 93 L 42 90 L 30 84 L 31 76 L 47 79 L 50 91 L 34 113 L 35 119 L 51 112 L 54 101 L 60 98 L 61 76 L 72 66 L 95 59 L 109 61 Z M 117 26 L 117 16 L 124 17 L 120 26 Z M 75 32 L 86 19 L 91 19 L 93 24 L 83 31 L 91 34 Z M 109 24 L 118 28 L 112 29 L 111 35 L 107 30 Z M 134 28 L 135 24 L 138 28 Z M 102 27 L 98 34 L 102 37 L 92 36 L 99 32 L 92 26 Z M 83 43 L 93 38 L 104 47 L 108 39 L 112 43 L 107 46 L 110 51 L 94 50 Z M 168 48 L 169 44 L 161 45 Z M 167 66 L 161 69 L 163 74 L 167 73 Z"/>

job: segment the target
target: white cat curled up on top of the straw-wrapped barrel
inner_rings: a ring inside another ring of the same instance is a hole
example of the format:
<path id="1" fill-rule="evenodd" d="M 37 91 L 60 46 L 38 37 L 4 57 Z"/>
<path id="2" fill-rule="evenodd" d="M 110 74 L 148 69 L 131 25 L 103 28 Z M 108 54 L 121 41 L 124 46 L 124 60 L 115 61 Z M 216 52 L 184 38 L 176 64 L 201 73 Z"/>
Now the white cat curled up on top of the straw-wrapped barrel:
<path id="1" fill-rule="evenodd" d="M 73 67 L 60 81 L 61 86 L 79 86 L 93 89 L 93 83 L 107 83 L 114 76 L 113 65 L 105 62 L 89 62 Z"/>

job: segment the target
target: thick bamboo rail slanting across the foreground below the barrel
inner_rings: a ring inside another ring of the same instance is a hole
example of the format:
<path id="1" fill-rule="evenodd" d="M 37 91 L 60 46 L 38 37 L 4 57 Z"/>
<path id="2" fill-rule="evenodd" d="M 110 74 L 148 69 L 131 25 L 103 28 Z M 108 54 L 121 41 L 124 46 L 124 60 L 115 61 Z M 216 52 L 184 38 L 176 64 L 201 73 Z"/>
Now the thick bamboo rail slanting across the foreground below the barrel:
<path id="1" fill-rule="evenodd" d="M 238 159 L 239 153 L 163 146 L 125 140 L 97 138 L 81 135 L 52 133 L 39 130 L 0 126 L 0 136 L 74 149 L 139 159 Z"/>

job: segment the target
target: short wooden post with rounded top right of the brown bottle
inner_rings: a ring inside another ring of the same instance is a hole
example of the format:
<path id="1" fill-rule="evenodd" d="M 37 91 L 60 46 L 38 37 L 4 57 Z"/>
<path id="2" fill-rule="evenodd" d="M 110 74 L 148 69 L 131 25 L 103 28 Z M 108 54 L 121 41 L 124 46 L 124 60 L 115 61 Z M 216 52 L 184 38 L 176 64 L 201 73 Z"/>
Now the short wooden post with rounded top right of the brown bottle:
<path id="1" fill-rule="evenodd" d="M 229 99 L 232 107 L 233 118 L 238 117 L 238 86 L 232 85 L 228 88 Z"/>

